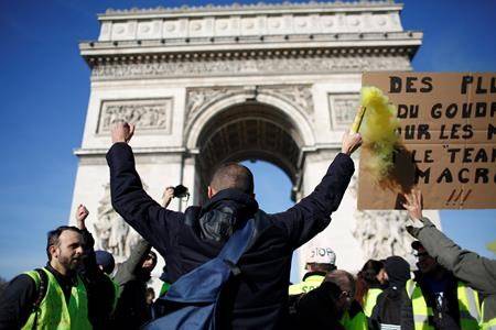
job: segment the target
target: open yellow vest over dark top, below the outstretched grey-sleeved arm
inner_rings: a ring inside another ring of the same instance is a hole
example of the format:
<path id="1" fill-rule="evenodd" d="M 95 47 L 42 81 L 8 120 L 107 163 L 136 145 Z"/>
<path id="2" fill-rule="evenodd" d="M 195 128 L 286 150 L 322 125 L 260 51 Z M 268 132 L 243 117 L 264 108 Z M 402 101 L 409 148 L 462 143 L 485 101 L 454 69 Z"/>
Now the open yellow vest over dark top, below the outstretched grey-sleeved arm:
<path id="1" fill-rule="evenodd" d="M 429 324 L 429 317 L 432 317 L 434 314 L 432 308 L 427 305 L 420 286 L 413 279 L 409 279 L 406 288 L 413 307 L 413 321 L 416 330 L 434 329 L 433 326 Z M 461 328 L 464 330 L 479 329 L 478 323 L 481 321 L 481 307 L 478 304 L 477 292 L 459 280 L 456 294 L 459 300 Z"/>

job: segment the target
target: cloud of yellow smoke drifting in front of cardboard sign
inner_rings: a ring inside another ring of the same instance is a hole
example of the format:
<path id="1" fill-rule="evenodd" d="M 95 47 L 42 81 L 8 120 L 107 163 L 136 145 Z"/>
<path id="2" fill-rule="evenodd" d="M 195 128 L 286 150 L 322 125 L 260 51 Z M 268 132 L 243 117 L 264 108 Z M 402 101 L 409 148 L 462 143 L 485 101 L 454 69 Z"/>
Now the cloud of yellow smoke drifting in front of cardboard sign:
<path id="1" fill-rule="evenodd" d="M 371 86 L 362 88 L 360 102 L 366 108 L 360 134 L 364 147 L 371 154 L 363 165 L 381 183 L 389 176 L 393 166 L 395 148 L 400 145 L 397 108 L 389 103 L 389 98 L 380 89 Z"/>

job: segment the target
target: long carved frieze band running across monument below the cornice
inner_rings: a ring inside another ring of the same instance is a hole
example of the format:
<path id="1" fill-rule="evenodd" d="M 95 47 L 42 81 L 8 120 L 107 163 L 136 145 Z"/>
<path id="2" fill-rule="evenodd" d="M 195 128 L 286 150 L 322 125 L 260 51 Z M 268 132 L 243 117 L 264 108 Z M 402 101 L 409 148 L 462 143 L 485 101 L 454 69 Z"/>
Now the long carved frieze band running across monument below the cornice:
<path id="1" fill-rule="evenodd" d="M 408 56 L 313 57 L 313 58 L 220 58 L 205 61 L 154 61 L 100 63 L 91 70 L 94 80 L 147 77 L 215 75 L 310 74 L 364 70 L 407 70 Z"/>

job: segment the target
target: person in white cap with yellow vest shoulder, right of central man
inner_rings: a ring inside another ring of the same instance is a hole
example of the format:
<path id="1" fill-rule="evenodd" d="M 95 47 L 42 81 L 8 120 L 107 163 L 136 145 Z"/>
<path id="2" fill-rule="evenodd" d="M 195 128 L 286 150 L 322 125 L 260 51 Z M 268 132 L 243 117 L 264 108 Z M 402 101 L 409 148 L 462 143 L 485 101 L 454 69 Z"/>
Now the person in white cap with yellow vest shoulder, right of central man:
<path id="1" fill-rule="evenodd" d="M 316 246 L 310 251 L 305 270 L 309 272 L 303 276 L 303 280 L 290 285 L 290 296 L 305 294 L 319 287 L 324 280 L 325 275 L 336 270 L 336 254 L 328 246 Z"/>

